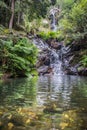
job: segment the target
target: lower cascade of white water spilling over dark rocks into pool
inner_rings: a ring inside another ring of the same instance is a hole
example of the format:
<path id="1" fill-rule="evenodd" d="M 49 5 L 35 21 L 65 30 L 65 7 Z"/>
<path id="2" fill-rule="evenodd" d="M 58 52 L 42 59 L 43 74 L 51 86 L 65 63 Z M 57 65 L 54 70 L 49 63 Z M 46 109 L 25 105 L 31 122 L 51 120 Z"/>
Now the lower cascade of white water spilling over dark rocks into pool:
<path id="1" fill-rule="evenodd" d="M 39 66 L 39 69 L 41 69 L 40 72 L 43 74 L 44 68 L 48 67 L 48 69 L 49 68 L 52 69 L 53 74 L 57 75 L 64 74 L 62 71 L 61 49 L 60 50 L 54 49 L 39 38 L 33 39 L 33 43 L 39 49 L 38 64 L 41 63 L 41 65 Z"/>

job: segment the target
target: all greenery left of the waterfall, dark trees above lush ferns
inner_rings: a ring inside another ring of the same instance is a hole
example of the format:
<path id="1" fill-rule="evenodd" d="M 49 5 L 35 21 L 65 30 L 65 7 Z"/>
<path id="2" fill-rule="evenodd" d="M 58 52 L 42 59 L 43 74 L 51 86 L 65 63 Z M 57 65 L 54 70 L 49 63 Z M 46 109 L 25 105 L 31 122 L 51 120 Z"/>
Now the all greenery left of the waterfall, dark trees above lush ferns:
<path id="1" fill-rule="evenodd" d="M 0 72 L 5 77 L 27 76 L 34 69 L 37 48 L 22 37 L 30 31 L 32 21 L 46 15 L 47 6 L 45 0 L 0 1 Z"/>

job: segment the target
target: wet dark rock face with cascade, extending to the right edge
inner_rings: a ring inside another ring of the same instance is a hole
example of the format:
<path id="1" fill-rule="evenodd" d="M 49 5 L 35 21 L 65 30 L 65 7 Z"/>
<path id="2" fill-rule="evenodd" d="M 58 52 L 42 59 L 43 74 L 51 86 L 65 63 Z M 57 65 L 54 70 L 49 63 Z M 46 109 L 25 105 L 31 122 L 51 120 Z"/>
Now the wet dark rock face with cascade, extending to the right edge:
<path id="1" fill-rule="evenodd" d="M 39 75 L 56 73 L 87 76 L 87 68 L 81 64 L 82 56 L 85 52 L 87 54 L 87 44 L 72 42 L 64 46 L 57 39 L 44 42 L 40 38 L 35 38 L 33 42 L 39 48 L 36 64 Z"/>

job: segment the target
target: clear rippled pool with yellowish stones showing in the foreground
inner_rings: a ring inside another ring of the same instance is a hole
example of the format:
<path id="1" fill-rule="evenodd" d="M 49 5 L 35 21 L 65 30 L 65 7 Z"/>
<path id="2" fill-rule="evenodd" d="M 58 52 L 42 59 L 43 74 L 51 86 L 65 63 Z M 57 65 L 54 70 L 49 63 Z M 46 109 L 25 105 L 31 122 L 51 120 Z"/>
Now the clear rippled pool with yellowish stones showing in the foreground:
<path id="1" fill-rule="evenodd" d="M 0 130 L 87 130 L 87 77 L 1 81 Z"/>

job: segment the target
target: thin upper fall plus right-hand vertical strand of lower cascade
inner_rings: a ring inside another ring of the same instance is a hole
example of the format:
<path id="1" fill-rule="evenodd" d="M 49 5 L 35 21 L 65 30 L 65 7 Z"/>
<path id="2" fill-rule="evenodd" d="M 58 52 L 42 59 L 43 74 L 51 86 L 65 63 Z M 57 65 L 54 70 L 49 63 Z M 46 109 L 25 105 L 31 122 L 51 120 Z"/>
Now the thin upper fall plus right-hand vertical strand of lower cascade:
<path id="1" fill-rule="evenodd" d="M 51 18 L 51 30 L 52 31 L 57 31 L 57 19 L 56 19 L 56 14 L 59 14 L 59 9 L 54 7 L 50 10 L 50 18 Z M 53 67 L 53 71 L 56 74 L 63 74 L 62 71 L 62 49 L 60 50 L 55 50 L 52 49 L 51 55 L 54 57 L 51 59 L 51 65 Z"/>

